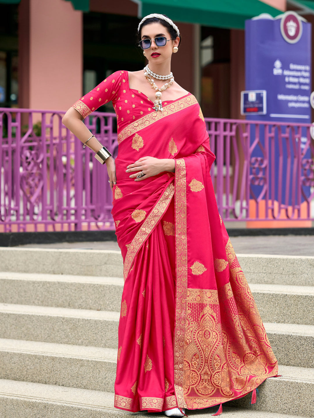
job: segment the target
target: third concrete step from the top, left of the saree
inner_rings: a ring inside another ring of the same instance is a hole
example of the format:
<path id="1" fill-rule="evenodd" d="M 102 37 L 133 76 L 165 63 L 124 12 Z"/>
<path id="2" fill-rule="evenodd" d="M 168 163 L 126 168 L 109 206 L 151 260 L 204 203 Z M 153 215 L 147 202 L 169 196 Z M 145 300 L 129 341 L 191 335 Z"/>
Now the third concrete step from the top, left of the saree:
<path id="1" fill-rule="evenodd" d="M 120 314 L 0 303 L 0 338 L 118 347 Z"/>

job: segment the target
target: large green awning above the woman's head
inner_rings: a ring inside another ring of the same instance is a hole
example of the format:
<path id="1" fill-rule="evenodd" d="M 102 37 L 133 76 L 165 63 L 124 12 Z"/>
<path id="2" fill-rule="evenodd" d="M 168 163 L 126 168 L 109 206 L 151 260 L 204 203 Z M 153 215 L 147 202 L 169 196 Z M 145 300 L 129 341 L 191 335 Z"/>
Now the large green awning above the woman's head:
<path id="1" fill-rule="evenodd" d="M 282 13 L 259 0 L 132 0 L 138 17 L 161 13 L 172 20 L 218 28 L 244 29 L 245 20 L 261 13 L 275 17 Z"/>

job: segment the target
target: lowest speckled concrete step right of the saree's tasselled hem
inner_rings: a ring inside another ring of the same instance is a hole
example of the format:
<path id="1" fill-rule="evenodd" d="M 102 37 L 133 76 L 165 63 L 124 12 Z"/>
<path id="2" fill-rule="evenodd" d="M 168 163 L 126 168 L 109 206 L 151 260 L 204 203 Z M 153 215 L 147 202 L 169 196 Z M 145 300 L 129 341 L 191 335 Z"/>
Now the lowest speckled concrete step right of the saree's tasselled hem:
<path id="1" fill-rule="evenodd" d="M 250 405 L 251 394 L 228 402 L 230 406 L 301 416 L 314 416 L 314 369 L 279 366 L 281 377 L 270 377 L 259 387 L 255 405 Z"/>

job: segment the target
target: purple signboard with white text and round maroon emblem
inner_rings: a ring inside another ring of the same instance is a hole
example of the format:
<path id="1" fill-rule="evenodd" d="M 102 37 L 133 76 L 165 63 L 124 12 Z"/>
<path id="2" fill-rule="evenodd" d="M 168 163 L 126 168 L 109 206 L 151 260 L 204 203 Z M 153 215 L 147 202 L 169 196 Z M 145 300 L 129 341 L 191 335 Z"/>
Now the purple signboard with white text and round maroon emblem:
<path id="1" fill-rule="evenodd" d="M 245 22 L 245 84 L 246 90 L 265 90 L 267 97 L 264 115 L 247 115 L 250 120 L 273 122 L 311 122 L 311 23 L 293 11 L 277 18 L 261 15 Z M 285 128 L 283 127 L 283 133 Z M 265 145 L 260 133 L 262 147 Z M 275 132 L 275 148 L 271 158 L 279 164 L 278 132 Z M 252 135 L 254 138 L 254 135 Z M 291 141 L 291 133 L 290 133 Z M 306 143 L 306 131 L 302 132 L 301 150 Z M 293 171 L 287 166 L 287 150 L 283 150 L 282 164 L 289 180 Z M 263 150 L 255 152 L 263 158 Z M 306 156 L 310 157 L 309 150 Z M 289 173 L 289 174 L 288 174 Z M 292 191 L 286 189 L 287 179 L 278 188 L 278 169 L 275 168 L 275 199 L 284 196 L 286 204 L 294 201 Z M 290 183 L 291 184 L 291 183 Z M 261 196 L 263 187 L 252 186 L 252 195 Z M 309 196 L 309 188 L 303 189 Z"/>

